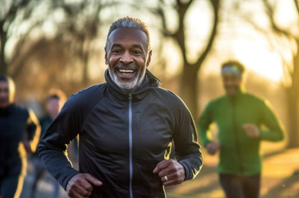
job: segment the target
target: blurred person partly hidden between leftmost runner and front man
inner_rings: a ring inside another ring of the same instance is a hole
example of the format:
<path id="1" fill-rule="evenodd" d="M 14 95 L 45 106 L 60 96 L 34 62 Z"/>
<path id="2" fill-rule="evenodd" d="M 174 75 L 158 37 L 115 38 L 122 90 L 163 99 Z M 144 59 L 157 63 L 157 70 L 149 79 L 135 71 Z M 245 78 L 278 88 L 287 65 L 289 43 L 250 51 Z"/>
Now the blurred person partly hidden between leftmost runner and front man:
<path id="1" fill-rule="evenodd" d="M 51 122 L 55 119 L 55 117 L 58 115 L 60 112 L 63 104 L 66 101 L 65 94 L 58 89 L 52 89 L 50 90 L 48 96 L 47 96 L 47 101 L 46 101 L 46 110 L 47 110 L 47 115 L 39 120 L 40 126 L 42 128 L 41 132 L 41 137 L 45 133 L 45 131 L 48 129 L 50 126 Z M 32 162 L 33 162 L 33 167 L 34 167 L 34 179 L 33 179 L 33 185 L 31 188 L 31 198 L 36 197 L 36 187 L 37 183 L 39 180 L 42 178 L 44 173 L 46 172 L 46 169 L 44 165 L 42 164 L 42 161 L 39 159 L 39 156 L 37 153 L 34 153 L 32 155 Z M 59 197 L 59 184 L 58 182 L 53 179 L 53 198 L 58 198 Z"/>

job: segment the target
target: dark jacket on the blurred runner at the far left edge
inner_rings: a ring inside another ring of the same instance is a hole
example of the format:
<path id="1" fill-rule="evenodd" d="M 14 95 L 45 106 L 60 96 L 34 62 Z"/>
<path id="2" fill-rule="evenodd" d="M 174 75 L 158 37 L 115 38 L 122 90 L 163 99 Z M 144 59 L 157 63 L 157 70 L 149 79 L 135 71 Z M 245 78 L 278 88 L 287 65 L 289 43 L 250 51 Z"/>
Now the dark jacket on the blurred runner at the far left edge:
<path id="1" fill-rule="evenodd" d="M 0 177 L 25 174 L 26 153 L 24 141 L 29 141 L 35 152 L 40 127 L 33 111 L 11 104 L 0 109 Z"/>

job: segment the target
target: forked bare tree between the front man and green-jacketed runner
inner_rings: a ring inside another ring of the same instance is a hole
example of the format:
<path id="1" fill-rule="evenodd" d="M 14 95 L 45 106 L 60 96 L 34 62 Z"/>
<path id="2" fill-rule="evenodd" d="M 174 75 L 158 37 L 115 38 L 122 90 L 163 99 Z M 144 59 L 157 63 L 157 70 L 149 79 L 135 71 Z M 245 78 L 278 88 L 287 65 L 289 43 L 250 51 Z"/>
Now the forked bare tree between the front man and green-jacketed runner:
<path id="1" fill-rule="evenodd" d="M 190 63 L 187 59 L 187 50 L 186 50 L 186 32 L 185 32 L 185 17 L 187 10 L 191 7 L 193 0 L 183 1 L 175 0 L 171 6 L 172 9 L 176 11 L 178 16 L 178 27 L 175 31 L 170 30 L 167 27 L 167 17 L 165 16 L 165 10 L 169 8 L 167 5 L 169 2 L 165 0 L 158 0 L 157 7 L 147 7 L 146 9 L 151 13 L 155 14 L 161 19 L 161 32 L 165 37 L 173 38 L 174 41 L 178 44 L 182 57 L 183 57 L 183 72 L 181 74 L 181 83 L 180 83 L 180 96 L 183 101 L 186 103 L 190 112 L 192 113 L 194 119 L 198 117 L 198 104 L 197 96 L 199 92 L 199 81 L 198 72 L 202 66 L 203 61 L 209 54 L 212 49 L 213 43 L 217 34 L 217 27 L 219 24 L 219 9 L 220 9 L 220 0 L 209 0 L 212 11 L 214 14 L 213 25 L 209 37 L 207 38 L 207 43 L 203 48 L 201 54 L 199 55 L 195 63 Z M 142 8 L 142 7 L 140 7 Z"/>

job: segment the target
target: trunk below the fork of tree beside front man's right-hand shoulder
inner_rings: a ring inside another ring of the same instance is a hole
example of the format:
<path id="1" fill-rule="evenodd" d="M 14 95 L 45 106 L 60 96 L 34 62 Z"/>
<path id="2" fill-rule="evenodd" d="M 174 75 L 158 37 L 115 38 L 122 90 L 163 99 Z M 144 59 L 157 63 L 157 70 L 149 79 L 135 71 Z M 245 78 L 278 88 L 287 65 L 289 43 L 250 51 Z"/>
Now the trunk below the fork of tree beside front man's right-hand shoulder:
<path id="1" fill-rule="evenodd" d="M 197 115 L 197 72 L 198 69 L 195 65 L 190 65 L 188 63 L 184 64 L 184 69 L 182 73 L 182 82 L 180 96 L 184 103 L 190 110 L 193 119 L 198 119 Z"/>

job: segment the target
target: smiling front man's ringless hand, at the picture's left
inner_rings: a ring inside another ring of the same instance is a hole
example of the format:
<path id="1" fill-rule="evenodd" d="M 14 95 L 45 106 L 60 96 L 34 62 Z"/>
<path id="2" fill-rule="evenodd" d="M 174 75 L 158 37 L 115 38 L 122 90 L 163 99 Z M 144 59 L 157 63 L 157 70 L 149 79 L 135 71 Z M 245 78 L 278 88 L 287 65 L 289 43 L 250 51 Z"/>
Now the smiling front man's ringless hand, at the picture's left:
<path id="1" fill-rule="evenodd" d="M 79 173 L 72 177 L 66 185 L 66 192 L 71 198 L 88 198 L 92 192 L 92 185 L 101 186 L 103 183 L 87 173 Z"/>

